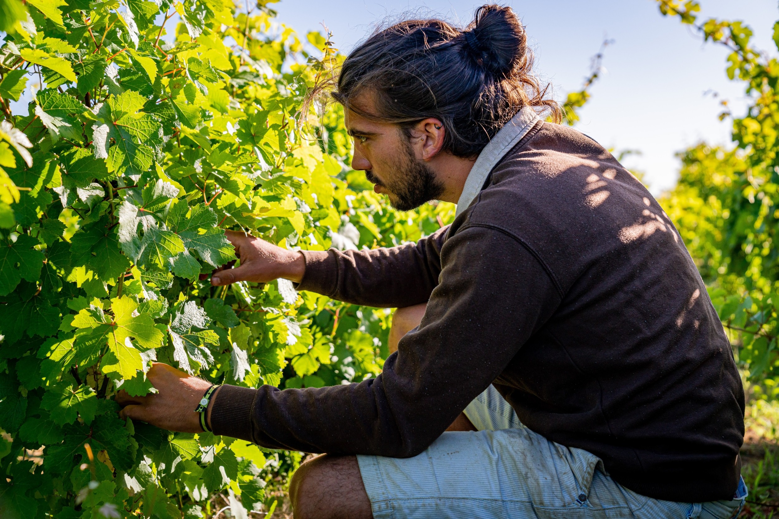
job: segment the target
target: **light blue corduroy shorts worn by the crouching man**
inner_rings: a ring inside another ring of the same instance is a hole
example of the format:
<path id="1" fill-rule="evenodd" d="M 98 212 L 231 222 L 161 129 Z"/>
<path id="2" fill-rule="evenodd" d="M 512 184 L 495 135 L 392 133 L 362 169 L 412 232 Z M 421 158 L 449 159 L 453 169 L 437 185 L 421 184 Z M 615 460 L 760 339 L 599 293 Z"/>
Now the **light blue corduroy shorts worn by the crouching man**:
<path id="1" fill-rule="evenodd" d="M 375 519 L 730 519 L 736 498 L 675 503 L 612 480 L 590 452 L 564 447 L 523 426 L 490 386 L 464 410 L 478 432 L 443 433 L 414 458 L 357 457 Z"/>

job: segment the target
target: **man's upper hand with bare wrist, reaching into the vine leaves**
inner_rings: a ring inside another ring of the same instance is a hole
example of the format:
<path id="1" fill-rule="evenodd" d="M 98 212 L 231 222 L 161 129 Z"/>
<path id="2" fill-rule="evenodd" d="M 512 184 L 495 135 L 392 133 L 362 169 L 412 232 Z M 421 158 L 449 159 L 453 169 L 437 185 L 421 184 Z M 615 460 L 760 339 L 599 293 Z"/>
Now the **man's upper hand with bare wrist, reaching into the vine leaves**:
<path id="1" fill-rule="evenodd" d="M 218 268 L 211 275 L 214 286 L 229 285 L 238 281 L 265 283 L 284 278 L 299 283 L 305 274 L 305 259 L 297 251 L 287 251 L 265 240 L 244 233 L 225 231 L 227 240 L 235 247 L 235 254 L 241 258 L 236 268 Z"/>

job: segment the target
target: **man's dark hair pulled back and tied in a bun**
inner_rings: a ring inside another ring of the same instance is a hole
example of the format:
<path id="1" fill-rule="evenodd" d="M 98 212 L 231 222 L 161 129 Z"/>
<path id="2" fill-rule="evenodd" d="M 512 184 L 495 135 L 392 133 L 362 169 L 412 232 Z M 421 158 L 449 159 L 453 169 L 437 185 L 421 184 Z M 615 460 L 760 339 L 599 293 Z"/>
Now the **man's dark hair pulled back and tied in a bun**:
<path id="1" fill-rule="evenodd" d="M 522 107 L 560 109 L 532 74 L 524 27 L 509 7 L 482 5 L 464 30 L 410 19 L 377 30 L 349 54 L 333 97 L 374 121 L 407 130 L 426 117 L 446 127 L 443 149 L 477 156 Z M 354 104 L 370 91 L 378 113 Z"/>

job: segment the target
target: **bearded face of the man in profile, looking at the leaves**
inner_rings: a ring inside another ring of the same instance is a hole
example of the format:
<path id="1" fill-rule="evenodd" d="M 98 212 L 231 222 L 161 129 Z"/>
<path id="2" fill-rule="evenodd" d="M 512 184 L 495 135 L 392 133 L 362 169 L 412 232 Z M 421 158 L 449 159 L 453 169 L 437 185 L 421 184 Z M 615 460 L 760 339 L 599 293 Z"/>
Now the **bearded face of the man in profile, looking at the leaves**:
<path id="1" fill-rule="evenodd" d="M 372 106 L 361 107 L 373 111 Z M 346 127 L 354 137 L 351 167 L 364 170 L 368 181 L 375 184 L 373 191 L 387 195 L 393 208 L 410 211 L 442 194 L 443 185 L 428 164 L 417 159 L 397 124 L 370 121 L 347 110 Z"/>

